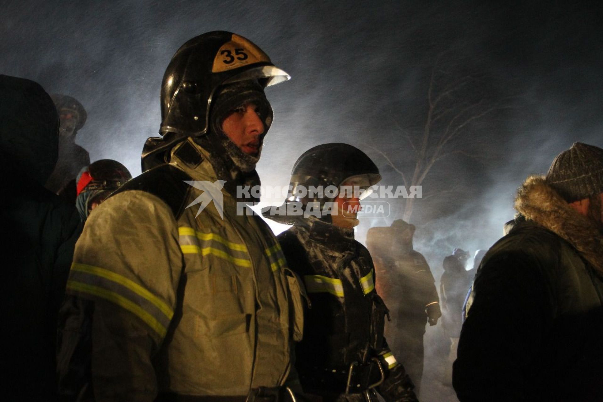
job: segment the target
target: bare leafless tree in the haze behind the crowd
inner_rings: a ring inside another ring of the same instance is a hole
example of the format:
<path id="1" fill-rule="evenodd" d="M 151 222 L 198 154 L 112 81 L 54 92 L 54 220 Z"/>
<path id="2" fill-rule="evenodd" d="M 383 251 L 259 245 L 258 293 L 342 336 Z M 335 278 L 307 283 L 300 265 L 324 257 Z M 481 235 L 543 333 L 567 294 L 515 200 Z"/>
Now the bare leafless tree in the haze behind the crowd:
<path id="1" fill-rule="evenodd" d="M 427 90 L 427 107 L 424 108 L 424 119 L 417 127 L 402 128 L 398 125 L 401 137 L 409 145 L 408 155 L 388 155 L 388 152 L 373 147 L 397 174 L 402 178 L 404 186 L 422 186 L 434 165 L 445 157 L 453 154 L 464 154 L 467 157 L 475 155 L 467 152 L 465 146 L 468 138 L 475 138 L 475 130 L 485 116 L 494 111 L 508 108 L 511 98 L 496 99 L 496 91 L 486 89 L 487 80 L 479 74 L 469 71 L 458 71 L 458 64 L 446 63 L 445 69 L 437 58 L 429 77 Z M 482 124 L 483 128 L 483 124 Z M 473 138 L 471 140 L 473 140 Z M 407 163 L 397 163 L 403 159 Z M 412 163 L 408 163 L 411 160 Z M 423 196 L 423 199 L 435 195 L 453 192 L 453 189 L 443 188 Z M 402 218 L 411 218 L 415 198 L 405 198 L 403 201 Z"/>

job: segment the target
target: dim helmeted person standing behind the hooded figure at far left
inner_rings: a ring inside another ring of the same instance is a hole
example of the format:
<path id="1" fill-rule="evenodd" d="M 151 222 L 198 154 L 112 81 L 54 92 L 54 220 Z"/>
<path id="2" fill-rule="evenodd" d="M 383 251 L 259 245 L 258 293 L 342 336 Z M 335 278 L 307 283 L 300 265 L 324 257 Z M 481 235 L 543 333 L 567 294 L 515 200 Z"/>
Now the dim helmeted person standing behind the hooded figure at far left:
<path id="1" fill-rule="evenodd" d="M 75 136 L 86 123 L 86 109 L 75 98 L 53 93 L 50 95 L 58 111 L 58 161 L 45 187 L 53 193 L 71 196 L 70 184 L 84 166 L 90 165 L 88 151 L 75 143 Z"/>

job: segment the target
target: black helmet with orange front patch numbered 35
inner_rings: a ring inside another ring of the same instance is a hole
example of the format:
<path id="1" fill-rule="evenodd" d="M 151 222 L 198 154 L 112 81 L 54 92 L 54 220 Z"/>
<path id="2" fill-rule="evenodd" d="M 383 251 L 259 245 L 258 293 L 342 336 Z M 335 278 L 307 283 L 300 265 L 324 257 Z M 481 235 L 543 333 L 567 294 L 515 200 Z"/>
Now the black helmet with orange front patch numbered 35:
<path id="1" fill-rule="evenodd" d="M 213 31 L 192 38 L 175 52 L 163 75 L 159 133 L 164 137 L 147 140 L 142 170 L 162 163 L 157 160 L 163 159 L 161 151 L 180 140 L 207 133 L 218 87 L 247 80 L 267 87 L 289 78 L 262 49 L 238 34 Z"/>

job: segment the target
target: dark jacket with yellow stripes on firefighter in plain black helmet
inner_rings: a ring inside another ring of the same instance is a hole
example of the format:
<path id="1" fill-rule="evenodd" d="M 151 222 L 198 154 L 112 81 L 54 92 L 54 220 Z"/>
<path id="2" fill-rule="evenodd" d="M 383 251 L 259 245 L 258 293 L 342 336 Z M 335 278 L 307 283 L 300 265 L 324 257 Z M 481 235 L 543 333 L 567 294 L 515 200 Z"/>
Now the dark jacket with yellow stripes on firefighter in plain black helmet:
<path id="1" fill-rule="evenodd" d="M 353 239 L 353 230 L 308 219 L 278 236 L 289 267 L 306 285 L 310 307 L 303 339 L 296 348 L 301 385 L 311 394 L 343 394 L 350 364 L 351 388 L 377 388 L 387 401 L 415 400 L 404 368 L 392 356 L 383 331 L 387 307 L 374 290 L 368 250 Z M 328 399 L 327 399 L 328 400 Z"/>

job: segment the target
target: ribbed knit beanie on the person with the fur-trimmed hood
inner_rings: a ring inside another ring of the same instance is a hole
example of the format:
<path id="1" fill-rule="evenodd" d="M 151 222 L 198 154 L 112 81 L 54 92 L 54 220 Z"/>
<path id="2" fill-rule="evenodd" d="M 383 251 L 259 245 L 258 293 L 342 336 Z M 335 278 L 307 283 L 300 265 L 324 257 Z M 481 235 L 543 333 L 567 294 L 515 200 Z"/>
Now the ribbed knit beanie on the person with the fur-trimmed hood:
<path id="1" fill-rule="evenodd" d="M 603 149 L 573 143 L 555 157 L 546 181 L 568 203 L 603 193 Z"/>

